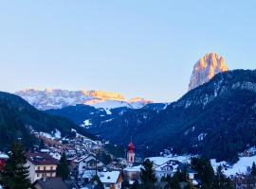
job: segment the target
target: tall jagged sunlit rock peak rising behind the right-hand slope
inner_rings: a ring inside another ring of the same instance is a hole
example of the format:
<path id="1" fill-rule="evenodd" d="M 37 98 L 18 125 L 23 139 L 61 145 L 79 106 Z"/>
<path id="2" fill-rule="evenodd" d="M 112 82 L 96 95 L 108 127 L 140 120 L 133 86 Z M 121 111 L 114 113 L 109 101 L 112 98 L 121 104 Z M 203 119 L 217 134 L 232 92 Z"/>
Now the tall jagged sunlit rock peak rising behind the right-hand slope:
<path id="1" fill-rule="evenodd" d="M 228 67 L 223 57 L 216 53 L 208 53 L 193 66 L 189 91 L 208 82 L 218 73 L 227 72 Z"/>

